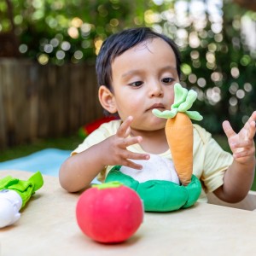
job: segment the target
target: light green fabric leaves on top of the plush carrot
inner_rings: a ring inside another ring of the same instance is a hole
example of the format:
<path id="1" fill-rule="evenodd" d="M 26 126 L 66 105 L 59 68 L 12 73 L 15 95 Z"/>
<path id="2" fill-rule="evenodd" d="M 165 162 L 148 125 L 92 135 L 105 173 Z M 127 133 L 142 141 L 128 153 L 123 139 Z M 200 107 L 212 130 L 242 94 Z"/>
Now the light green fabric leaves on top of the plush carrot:
<path id="1" fill-rule="evenodd" d="M 174 84 L 174 102 L 171 110 L 161 112 L 159 109 L 153 109 L 152 113 L 155 116 L 163 119 L 172 119 L 176 116 L 177 112 L 186 113 L 189 119 L 201 121 L 202 116 L 197 111 L 189 111 L 197 97 L 195 90 L 187 90 L 181 84 Z"/>

